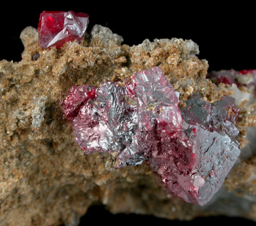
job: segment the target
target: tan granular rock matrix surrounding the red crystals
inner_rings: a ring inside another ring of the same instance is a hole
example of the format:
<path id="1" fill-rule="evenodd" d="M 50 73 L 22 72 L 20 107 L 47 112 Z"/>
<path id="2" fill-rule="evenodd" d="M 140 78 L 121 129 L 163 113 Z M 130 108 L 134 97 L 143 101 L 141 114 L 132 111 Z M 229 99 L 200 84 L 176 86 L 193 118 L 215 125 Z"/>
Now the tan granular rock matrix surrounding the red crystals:
<path id="1" fill-rule="evenodd" d="M 256 153 L 249 144 L 256 126 L 255 96 L 206 79 L 208 62 L 196 56 L 197 44 L 156 39 L 122 45 L 121 36 L 100 25 L 81 44 L 67 42 L 60 49 L 39 47 L 32 27 L 22 31 L 21 40 L 20 62 L 0 61 L 0 225 L 76 225 L 96 204 L 111 213 L 167 219 L 221 214 L 256 220 Z M 72 85 L 97 87 L 155 66 L 180 93 L 180 106 L 196 92 L 205 102 L 232 95 L 239 103 L 241 158 L 205 206 L 176 198 L 150 165 L 117 169 L 114 156 L 85 155 L 64 117 L 62 101 Z"/>

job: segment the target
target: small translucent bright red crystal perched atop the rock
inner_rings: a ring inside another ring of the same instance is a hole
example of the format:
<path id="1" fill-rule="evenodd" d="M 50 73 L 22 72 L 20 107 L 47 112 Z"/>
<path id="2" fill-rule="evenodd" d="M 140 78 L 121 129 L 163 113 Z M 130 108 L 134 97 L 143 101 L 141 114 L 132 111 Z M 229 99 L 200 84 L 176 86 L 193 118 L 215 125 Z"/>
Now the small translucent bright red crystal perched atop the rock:
<path id="1" fill-rule="evenodd" d="M 73 11 L 44 11 L 38 23 L 38 45 L 42 48 L 62 47 L 65 42 L 81 42 L 89 23 L 89 15 Z"/>

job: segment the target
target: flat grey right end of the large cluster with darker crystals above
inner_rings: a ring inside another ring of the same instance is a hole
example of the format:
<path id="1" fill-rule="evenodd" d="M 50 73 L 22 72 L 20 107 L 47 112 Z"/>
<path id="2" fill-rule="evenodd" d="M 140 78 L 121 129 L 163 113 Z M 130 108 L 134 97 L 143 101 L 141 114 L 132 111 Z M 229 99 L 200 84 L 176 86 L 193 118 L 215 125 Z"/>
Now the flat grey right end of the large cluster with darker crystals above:
<path id="1" fill-rule="evenodd" d="M 187 108 L 181 109 L 183 129 L 191 136 L 193 153 L 197 156 L 196 168 L 192 170 L 192 174 L 199 181 L 199 205 L 206 204 L 220 189 L 240 155 L 236 140 L 239 132 L 235 127 L 239 110 L 234 104 L 235 99 L 232 97 L 226 96 L 210 104 L 198 95 L 193 95 L 187 101 Z M 193 184 L 197 184 L 196 180 Z"/>

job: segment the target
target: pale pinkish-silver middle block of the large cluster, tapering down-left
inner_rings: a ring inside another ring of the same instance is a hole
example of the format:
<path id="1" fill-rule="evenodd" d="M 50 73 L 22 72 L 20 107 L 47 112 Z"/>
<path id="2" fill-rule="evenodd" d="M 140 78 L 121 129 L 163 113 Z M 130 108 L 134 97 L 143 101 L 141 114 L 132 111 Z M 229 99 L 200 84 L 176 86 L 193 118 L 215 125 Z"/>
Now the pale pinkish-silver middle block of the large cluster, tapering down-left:
<path id="1" fill-rule="evenodd" d="M 148 155 L 157 143 L 173 137 L 182 127 L 179 93 L 160 68 L 136 73 L 133 85 L 131 97 L 137 102 L 137 129 L 131 146 L 119 155 L 119 167 L 149 161 Z"/>

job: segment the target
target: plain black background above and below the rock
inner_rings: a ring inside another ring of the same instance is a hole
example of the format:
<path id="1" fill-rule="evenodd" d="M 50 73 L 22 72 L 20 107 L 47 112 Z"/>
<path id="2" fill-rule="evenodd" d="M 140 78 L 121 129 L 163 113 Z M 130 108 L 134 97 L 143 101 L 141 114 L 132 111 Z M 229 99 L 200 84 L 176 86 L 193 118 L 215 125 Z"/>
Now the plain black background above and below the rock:
<path id="1" fill-rule="evenodd" d="M 37 27 L 42 11 L 59 10 L 85 12 L 90 15 L 88 31 L 100 24 L 109 27 L 114 33 L 122 35 L 124 44 L 138 45 L 145 39 L 171 39 L 177 37 L 192 39 L 199 45 L 199 58 L 208 60 L 209 70 L 255 69 L 255 7 L 243 3 L 224 6 L 226 2 L 210 3 L 167 3 L 153 2 L 22 2 L 5 3 L 0 13 L 0 60 L 21 60 L 24 50 L 19 38 L 26 26 Z M 143 224 L 190 224 L 190 222 L 171 222 L 152 216 L 111 215 L 103 207 L 89 209 L 81 219 L 81 225 L 88 222 Z M 207 219 L 197 219 L 194 223 L 206 223 Z M 234 224 L 253 222 L 239 218 L 211 218 L 212 223 Z"/>

